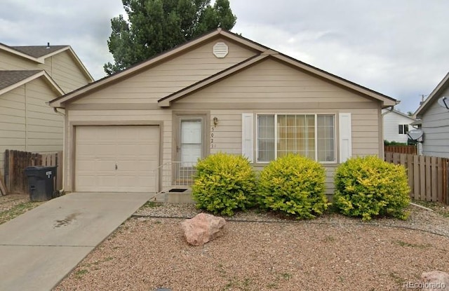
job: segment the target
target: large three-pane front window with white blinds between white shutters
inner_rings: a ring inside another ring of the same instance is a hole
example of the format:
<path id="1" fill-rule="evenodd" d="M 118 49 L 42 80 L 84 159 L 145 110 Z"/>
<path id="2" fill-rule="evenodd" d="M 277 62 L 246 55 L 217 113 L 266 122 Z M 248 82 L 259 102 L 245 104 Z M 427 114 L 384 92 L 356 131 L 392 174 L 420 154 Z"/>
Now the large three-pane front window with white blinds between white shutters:
<path id="1" fill-rule="evenodd" d="M 257 161 L 269 162 L 289 153 L 335 162 L 335 115 L 259 114 Z"/>

